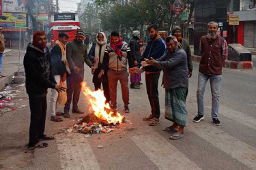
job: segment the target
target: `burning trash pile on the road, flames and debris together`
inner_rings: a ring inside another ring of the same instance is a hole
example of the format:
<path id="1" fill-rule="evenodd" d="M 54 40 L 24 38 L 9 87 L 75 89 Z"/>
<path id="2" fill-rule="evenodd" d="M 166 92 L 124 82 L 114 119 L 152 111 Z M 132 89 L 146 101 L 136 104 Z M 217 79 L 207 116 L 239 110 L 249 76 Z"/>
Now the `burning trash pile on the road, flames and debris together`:
<path id="1" fill-rule="evenodd" d="M 109 103 L 105 102 L 106 99 L 102 90 L 91 91 L 85 82 L 81 85 L 92 113 L 79 118 L 72 127 L 72 131 L 85 134 L 109 133 L 113 131 L 116 124 L 126 122 L 124 116 L 111 110 Z"/>

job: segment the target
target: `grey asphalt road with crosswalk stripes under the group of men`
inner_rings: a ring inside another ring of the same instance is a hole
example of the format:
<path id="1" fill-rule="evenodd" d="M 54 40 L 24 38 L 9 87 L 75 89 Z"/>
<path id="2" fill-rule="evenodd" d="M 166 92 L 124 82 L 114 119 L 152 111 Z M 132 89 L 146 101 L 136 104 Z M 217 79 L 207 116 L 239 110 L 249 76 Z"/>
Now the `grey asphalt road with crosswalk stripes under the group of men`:
<path id="1" fill-rule="evenodd" d="M 25 148 L 29 135 L 29 107 L 1 114 L 0 169 L 256 169 L 256 71 L 223 68 L 219 110 L 222 124 L 214 126 L 210 117 L 209 84 L 205 89 L 205 119 L 199 123 L 192 121 L 197 115 L 198 63 L 193 65 L 183 139 L 172 141 L 169 139 L 171 133 L 161 130 L 171 122 L 164 118 L 165 90 L 160 83 L 161 123 L 148 126 L 148 122 L 142 121 L 150 114 L 143 74 L 141 89 L 130 89 L 129 114 L 123 112 L 118 85 L 117 107 L 128 122 L 108 134 L 85 137 L 79 133 L 61 133 L 59 130 L 74 124 L 79 115 L 71 114 L 71 118 L 64 118 L 63 122 L 51 122 L 48 108 L 46 134 L 57 139 L 49 141 L 48 148 L 31 152 Z M 84 80 L 93 89 L 91 71 L 85 67 Z M 27 95 L 21 90 L 24 88 L 17 87 L 20 92 L 13 99 L 14 103 L 28 105 Z M 50 95 L 51 90 L 48 91 L 48 101 Z M 79 107 L 88 113 L 89 105 L 83 94 Z M 99 145 L 104 148 L 99 149 Z"/>

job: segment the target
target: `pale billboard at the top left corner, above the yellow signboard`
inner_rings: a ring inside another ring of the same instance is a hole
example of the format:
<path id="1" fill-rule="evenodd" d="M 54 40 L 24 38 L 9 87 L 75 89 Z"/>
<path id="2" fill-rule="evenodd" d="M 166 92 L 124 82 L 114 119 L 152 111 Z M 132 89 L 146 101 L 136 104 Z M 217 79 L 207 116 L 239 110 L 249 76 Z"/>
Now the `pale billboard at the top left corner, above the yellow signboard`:
<path id="1" fill-rule="evenodd" d="M 27 13 L 27 0 L 3 0 L 3 12 Z"/>

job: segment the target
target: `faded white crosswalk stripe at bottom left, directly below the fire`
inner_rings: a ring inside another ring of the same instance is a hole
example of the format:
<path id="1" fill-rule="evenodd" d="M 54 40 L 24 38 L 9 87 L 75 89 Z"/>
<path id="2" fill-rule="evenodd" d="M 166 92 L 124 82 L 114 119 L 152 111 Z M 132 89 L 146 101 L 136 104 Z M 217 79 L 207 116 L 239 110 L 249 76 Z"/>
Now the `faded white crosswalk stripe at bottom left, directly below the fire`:
<path id="1" fill-rule="evenodd" d="M 77 134 L 75 139 L 63 136 L 57 136 L 56 139 L 61 169 L 100 169 L 88 139 Z"/>

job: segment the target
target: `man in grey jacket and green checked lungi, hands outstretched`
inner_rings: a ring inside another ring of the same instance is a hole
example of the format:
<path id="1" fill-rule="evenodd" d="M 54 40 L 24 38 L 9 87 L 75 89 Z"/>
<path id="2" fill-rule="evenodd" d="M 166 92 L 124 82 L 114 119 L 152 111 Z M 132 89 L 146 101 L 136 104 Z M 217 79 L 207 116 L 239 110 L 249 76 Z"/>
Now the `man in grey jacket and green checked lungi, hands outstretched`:
<path id="1" fill-rule="evenodd" d="M 186 52 L 176 37 L 166 39 L 167 53 L 154 60 L 145 59 L 143 66 L 155 65 L 164 69 L 162 82 L 165 88 L 165 118 L 173 124 L 163 131 L 175 132 L 170 139 L 184 137 L 186 126 L 186 97 L 188 95 L 188 65 Z"/>

